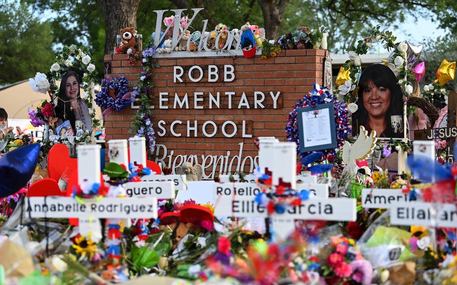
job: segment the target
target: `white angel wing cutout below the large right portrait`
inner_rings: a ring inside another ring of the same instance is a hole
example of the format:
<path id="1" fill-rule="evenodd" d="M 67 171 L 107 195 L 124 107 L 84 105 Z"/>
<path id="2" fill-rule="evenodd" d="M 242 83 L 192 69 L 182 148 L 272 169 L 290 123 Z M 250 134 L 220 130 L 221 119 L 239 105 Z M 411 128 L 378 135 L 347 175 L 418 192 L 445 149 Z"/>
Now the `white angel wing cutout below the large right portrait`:
<path id="1" fill-rule="evenodd" d="M 359 137 L 351 144 L 345 141 L 345 145 L 342 149 L 342 160 L 348 165 L 356 164 L 356 160 L 363 161 L 373 153 L 376 147 L 376 131 L 372 130 L 370 136 L 365 127 L 360 127 Z"/>

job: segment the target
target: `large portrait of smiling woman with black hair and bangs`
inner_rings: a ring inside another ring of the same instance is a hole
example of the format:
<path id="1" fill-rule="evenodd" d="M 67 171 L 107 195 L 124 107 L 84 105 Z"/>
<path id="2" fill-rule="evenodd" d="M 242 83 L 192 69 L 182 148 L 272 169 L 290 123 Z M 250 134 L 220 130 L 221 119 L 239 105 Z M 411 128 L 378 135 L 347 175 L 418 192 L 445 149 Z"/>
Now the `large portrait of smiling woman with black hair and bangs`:
<path id="1" fill-rule="evenodd" d="M 364 126 L 377 137 L 403 137 L 403 93 L 393 71 L 383 64 L 365 68 L 359 80 L 353 130 Z"/>

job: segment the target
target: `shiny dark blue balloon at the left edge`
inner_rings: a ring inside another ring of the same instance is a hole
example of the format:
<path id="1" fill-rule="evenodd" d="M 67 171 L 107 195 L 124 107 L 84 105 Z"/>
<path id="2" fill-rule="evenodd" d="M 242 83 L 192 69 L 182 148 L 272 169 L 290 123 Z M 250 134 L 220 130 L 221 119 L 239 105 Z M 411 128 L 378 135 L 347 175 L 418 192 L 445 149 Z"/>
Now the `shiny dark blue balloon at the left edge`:
<path id="1" fill-rule="evenodd" d="M 40 144 L 21 147 L 0 158 L 0 198 L 15 194 L 32 178 Z"/>

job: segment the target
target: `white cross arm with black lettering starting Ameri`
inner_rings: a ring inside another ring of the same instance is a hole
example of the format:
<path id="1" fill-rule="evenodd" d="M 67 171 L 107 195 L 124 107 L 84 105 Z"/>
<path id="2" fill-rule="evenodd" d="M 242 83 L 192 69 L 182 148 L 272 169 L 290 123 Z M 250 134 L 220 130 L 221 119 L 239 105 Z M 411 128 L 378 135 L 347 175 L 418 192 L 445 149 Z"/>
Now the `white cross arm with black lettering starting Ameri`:
<path id="1" fill-rule="evenodd" d="M 390 209 L 396 203 L 416 202 L 409 200 L 409 194 L 401 189 L 362 189 L 362 207 Z"/>

